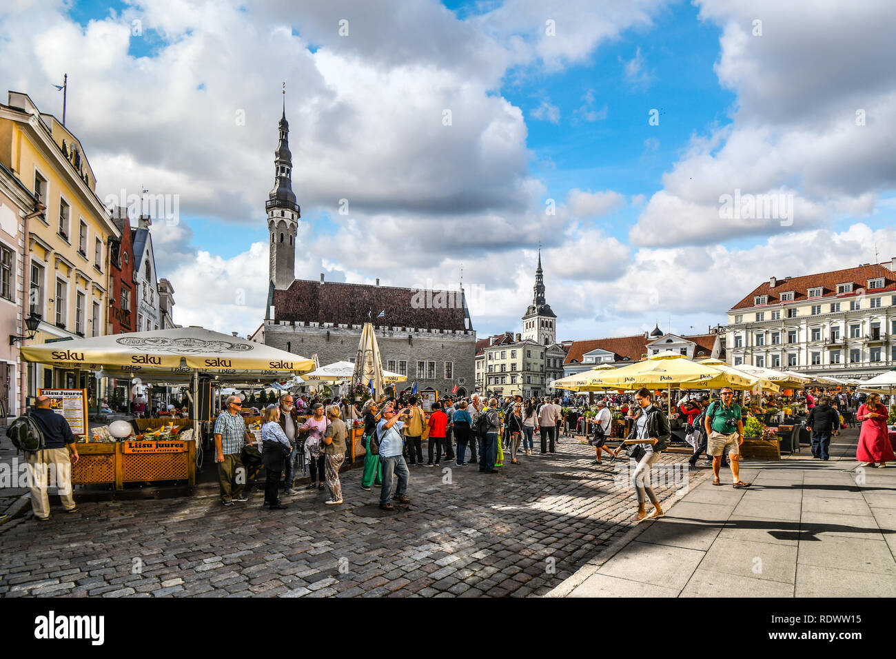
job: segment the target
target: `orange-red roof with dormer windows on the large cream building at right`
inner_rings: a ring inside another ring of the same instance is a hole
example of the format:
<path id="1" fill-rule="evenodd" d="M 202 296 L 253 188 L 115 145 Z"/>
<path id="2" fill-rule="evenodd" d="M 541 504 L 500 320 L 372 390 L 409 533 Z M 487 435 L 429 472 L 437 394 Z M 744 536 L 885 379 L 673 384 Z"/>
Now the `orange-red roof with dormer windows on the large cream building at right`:
<path id="1" fill-rule="evenodd" d="M 768 304 L 762 306 L 771 306 L 780 304 L 780 294 L 793 291 L 793 301 L 806 301 L 809 298 L 809 289 L 822 289 L 822 298 L 837 297 L 837 284 L 851 283 L 853 293 L 858 289 L 865 289 L 869 279 L 883 279 L 883 289 L 874 289 L 881 292 L 896 291 L 896 273 L 881 264 L 861 265 L 856 268 L 847 268 L 846 270 L 832 270 L 829 273 L 806 274 L 802 277 L 791 277 L 790 279 L 780 279 L 775 282 L 775 287 L 771 288 L 771 282 L 762 282 L 749 295 L 740 300 L 732 309 L 753 308 L 754 298 L 759 295 L 767 295 L 769 297 Z M 849 296 L 849 293 L 841 293 L 841 296 Z"/>

